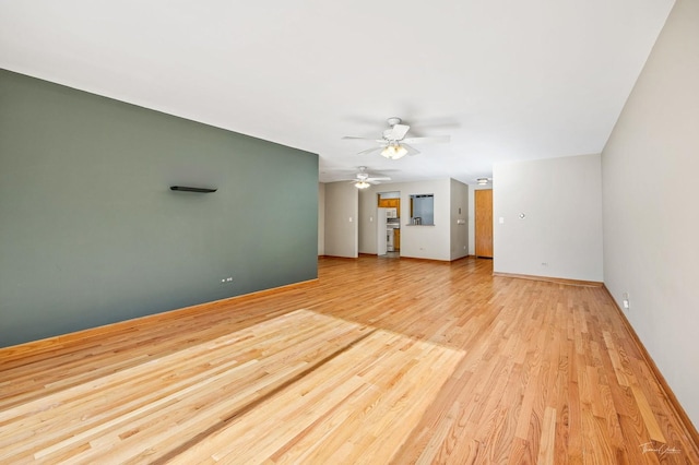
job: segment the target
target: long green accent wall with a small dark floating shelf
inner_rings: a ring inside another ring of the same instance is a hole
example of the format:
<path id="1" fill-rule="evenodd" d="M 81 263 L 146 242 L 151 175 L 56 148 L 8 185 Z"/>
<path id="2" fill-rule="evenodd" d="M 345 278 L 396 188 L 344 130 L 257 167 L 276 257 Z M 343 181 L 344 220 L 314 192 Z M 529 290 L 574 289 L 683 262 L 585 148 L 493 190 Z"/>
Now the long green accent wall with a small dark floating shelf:
<path id="1" fill-rule="evenodd" d="M 313 279 L 317 254 L 318 155 L 0 70 L 0 346 Z"/>

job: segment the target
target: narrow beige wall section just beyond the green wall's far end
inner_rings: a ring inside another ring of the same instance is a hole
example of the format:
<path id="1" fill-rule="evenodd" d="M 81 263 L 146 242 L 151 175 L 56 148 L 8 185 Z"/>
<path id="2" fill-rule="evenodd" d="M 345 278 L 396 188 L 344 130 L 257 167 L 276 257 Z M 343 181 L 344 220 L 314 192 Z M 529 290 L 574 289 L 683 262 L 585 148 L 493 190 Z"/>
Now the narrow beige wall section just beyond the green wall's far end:
<path id="1" fill-rule="evenodd" d="M 358 257 L 358 194 L 350 182 L 325 183 L 325 255 Z"/>

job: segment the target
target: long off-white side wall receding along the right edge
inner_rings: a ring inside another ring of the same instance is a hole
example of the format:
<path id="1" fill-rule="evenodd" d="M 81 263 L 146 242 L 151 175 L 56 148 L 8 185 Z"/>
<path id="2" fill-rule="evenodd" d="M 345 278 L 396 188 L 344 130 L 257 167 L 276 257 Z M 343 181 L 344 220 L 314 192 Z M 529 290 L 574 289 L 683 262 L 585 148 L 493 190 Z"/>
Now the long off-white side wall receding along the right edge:
<path id="1" fill-rule="evenodd" d="M 605 284 L 699 426 L 699 1 L 677 0 L 602 153 Z M 621 307 L 621 306 L 620 306 Z"/>

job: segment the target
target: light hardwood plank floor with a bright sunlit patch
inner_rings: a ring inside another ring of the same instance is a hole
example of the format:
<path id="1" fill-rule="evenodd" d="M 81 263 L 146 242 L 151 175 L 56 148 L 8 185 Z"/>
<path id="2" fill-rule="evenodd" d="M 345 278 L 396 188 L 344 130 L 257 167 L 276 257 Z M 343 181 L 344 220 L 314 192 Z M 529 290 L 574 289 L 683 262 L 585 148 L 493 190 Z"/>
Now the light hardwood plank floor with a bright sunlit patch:
<path id="1" fill-rule="evenodd" d="M 0 463 L 699 464 L 603 288 L 491 273 L 322 258 L 0 349 Z"/>

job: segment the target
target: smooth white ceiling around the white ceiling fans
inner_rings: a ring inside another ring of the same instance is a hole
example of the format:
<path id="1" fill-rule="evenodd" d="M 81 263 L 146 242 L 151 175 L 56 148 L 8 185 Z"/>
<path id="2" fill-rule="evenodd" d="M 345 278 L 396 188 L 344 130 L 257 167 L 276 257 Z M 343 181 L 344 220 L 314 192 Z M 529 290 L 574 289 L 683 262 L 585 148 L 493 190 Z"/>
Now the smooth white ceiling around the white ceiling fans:
<path id="1" fill-rule="evenodd" d="M 2 0 L 0 67 L 395 181 L 600 153 L 673 0 Z M 451 134 L 400 160 L 343 135 Z M 348 170 L 348 172 L 344 172 Z"/>

